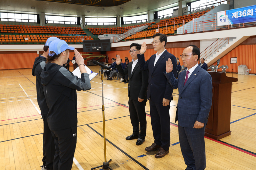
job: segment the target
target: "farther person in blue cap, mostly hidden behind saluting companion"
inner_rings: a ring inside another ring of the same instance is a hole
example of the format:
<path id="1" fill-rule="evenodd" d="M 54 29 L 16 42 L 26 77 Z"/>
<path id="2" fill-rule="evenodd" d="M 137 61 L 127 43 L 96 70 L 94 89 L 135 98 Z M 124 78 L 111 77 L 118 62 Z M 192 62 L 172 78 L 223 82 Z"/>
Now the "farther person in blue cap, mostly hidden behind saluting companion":
<path id="1" fill-rule="evenodd" d="M 43 55 L 35 58 L 32 75 L 36 77 L 36 95 L 37 95 L 37 103 L 41 110 L 41 116 L 43 119 L 44 125 L 44 133 L 43 133 L 43 165 L 41 166 L 41 170 L 53 169 L 53 157 L 55 154 L 55 145 L 52 133 L 48 127 L 47 122 L 47 113 L 49 111 L 48 106 L 45 101 L 45 96 L 43 92 L 43 86 L 41 84 L 41 72 L 44 69 L 46 57 L 49 53 L 49 45 L 54 40 L 59 40 L 57 37 L 50 37 L 47 39 L 44 45 L 44 53 Z"/>

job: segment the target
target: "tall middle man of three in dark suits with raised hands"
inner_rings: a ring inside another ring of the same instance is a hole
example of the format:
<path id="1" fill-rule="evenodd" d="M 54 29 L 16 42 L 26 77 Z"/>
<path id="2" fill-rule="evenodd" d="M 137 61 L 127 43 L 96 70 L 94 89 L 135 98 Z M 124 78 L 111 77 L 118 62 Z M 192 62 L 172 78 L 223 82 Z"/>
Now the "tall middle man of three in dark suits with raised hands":
<path id="1" fill-rule="evenodd" d="M 147 99 L 149 99 L 151 126 L 154 143 L 145 148 L 146 151 L 158 150 L 156 158 L 162 158 L 169 152 L 170 147 L 170 102 L 173 88 L 164 76 L 166 61 L 170 58 L 174 63 L 173 74 L 177 74 L 177 60 L 174 55 L 167 52 L 165 45 L 167 37 L 164 34 L 153 35 L 152 45 L 157 54 L 152 55 L 146 62 L 144 53 L 146 43 L 143 42 L 138 54 L 140 70 L 149 71 Z"/>

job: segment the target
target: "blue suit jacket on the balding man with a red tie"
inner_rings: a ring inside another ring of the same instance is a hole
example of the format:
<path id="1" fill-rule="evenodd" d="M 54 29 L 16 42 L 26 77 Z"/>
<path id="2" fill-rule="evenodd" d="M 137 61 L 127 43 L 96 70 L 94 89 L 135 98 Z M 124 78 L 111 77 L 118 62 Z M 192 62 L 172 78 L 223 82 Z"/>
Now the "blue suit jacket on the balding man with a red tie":
<path id="1" fill-rule="evenodd" d="M 173 73 L 164 73 L 174 89 L 179 88 L 176 120 L 181 127 L 193 128 L 196 121 L 207 123 L 212 106 L 212 77 L 198 65 L 187 79 L 184 86 L 186 72 L 182 71 L 176 79 Z"/>

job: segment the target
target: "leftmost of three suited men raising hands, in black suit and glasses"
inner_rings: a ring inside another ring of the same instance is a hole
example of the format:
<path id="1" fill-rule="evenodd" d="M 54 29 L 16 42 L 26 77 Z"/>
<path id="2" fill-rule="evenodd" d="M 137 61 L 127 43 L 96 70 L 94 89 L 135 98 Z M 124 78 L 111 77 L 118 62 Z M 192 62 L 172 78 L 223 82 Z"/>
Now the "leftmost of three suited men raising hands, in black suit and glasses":
<path id="1" fill-rule="evenodd" d="M 127 136 L 125 139 L 138 139 L 136 145 L 141 145 L 145 141 L 147 131 L 145 106 L 147 102 L 146 91 L 148 86 L 148 70 L 140 71 L 139 69 L 137 55 L 140 53 L 140 47 L 141 45 L 138 43 L 132 43 L 130 45 L 129 53 L 132 57 L 132 62 L 130 62 L 125 69 L 121 67 L 119 55 L 117 55 L 116 65 L 118 73 L 120 73 L 121 76 L 129 75 L 128 104 L 133 126 L 133 134 Z"/>

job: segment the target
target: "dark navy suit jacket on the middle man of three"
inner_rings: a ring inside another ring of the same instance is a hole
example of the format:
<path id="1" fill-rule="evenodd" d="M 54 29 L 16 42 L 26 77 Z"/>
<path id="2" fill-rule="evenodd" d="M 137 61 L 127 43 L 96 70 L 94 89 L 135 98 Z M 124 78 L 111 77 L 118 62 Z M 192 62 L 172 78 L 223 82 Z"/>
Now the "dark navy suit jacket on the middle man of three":
<path id="1" fill-rule="evenodd" d="M 162 103 L 163 98 L 172 100 L 173 88 L 168 83 L 167 78 L 164 76 L 166 61 L 168 58 L 172 60 L 173 63 L 173 75 L 177 75 L 177 59 L 174 55 L 165 50 L 160 56 L 156 65 L 154 67 L 154 62 L 156 59 L 156 54 L 152 55 L 148 61 L 145 62 L 144 54 L 138 54 L 138 62 L 140 70 L 147 70 L 149 72 L 148 78 L 148 92 L 147 99 L 150 98 L 155 103 Z"/>

